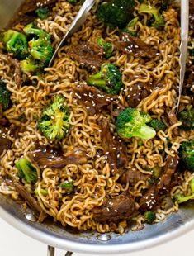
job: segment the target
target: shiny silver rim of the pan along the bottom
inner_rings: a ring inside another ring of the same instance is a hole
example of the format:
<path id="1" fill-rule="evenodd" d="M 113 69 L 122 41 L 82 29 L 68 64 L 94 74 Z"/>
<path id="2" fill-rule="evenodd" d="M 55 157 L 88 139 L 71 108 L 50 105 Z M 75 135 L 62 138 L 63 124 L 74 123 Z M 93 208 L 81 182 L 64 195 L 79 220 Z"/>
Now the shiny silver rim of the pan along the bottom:
<path id="1" fill-rule="evenodd" d="M 17 218 L 17 216 L 13 216 L 10 212 L 3 209 L 2 206 L 0 206 L 0 216 L 2 220 L 5 220 L 9 225 L 12 225 L 14 228 L 33 239 L 59 249 L 73 251 L 80 254 L 125 254 L 144 249 L 150 249 L 151 247 L 167 243 L 172 239 L 176 239 L 177 237 L 186 234 L 194 227 L 193 219 L 183 223 L 183 225 L 179 225 L 177 229 L 171 230 L 170 232 L 167 232 L 163 235 L 156 236 L 152 239 L 138 241 L 133 244 L 126 243 L 125 246 L 124 244 L 106 243 L 86 244 L 78 241 L 69 241 L 67 239 L 54 237 L 54 235 L 46 234 L 42 230 L 38 230 L 34 226 L 26 224 Z"/>

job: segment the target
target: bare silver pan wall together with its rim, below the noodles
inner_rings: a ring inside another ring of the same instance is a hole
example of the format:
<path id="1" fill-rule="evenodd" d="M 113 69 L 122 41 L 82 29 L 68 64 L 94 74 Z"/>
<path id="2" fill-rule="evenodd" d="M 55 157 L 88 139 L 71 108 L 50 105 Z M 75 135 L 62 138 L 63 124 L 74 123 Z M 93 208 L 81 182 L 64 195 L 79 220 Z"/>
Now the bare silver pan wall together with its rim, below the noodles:
<path id="1" fill-rule="evenodd" d="M 124 235 L 109 234 L 111 239 L 97 239 L 97 232 L 75 232 L 49 222 L 31 222 L 26 220 L 26 211 L 12 201 L 0 195 L 0 216 L 17 230 L 50 246 L 78 253 L 121 254 L 151 248 L 156 244 L 168 242 L 194 228 L 194 201 L 185 205 L 177 213 L 158 224 L 146 225 L 144 230 L 129 230 Z"/>

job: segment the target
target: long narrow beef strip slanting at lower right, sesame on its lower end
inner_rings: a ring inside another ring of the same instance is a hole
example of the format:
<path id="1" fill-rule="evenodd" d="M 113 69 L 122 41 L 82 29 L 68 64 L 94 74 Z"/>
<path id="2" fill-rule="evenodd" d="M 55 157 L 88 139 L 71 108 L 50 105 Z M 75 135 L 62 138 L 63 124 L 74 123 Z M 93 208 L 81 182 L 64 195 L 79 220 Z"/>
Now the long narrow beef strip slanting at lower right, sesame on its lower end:
<path id="1" fill-rule="evenodd" d="M 149 189 L 144 193 L 144 196 L 140 199 L 141 211 L 152 210 L 159 201 L 159 192 L 168 192 L 173 174 L 177 170 L 178 159 L 177 154 L 175 154 L 173 157 L 168 155 L 168 159 L 159 183 L 149 187 Z"/>

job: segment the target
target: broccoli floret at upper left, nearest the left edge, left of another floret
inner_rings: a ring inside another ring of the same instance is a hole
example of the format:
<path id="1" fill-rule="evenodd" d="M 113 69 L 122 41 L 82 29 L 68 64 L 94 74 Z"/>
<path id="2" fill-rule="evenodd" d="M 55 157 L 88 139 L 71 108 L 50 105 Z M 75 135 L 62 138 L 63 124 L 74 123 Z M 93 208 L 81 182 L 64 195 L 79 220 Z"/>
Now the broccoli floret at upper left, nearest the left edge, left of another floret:
<path id="1" fill-rule="evenodd" d="M 18 31 L 8 30 L 4 33 L 3 42 L 6 44 L 7 52 L 19 60 L 26 59 L 28 45 L 26 36 Z"/>

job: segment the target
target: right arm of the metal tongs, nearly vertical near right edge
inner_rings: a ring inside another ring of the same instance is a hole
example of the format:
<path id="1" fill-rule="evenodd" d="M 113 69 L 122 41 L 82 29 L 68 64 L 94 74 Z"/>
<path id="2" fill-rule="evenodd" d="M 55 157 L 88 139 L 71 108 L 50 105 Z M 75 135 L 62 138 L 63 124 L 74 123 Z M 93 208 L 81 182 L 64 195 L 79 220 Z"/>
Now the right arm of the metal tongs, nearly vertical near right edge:
<path id="1" fill-rule="evenodd" d="M 188 45 L 189 0 L 181 1 L 181 45 L 180 45 L 180 83 L 177 101 L 177 111 L 182 95 L 182 87 L 185 77 Z"/>

